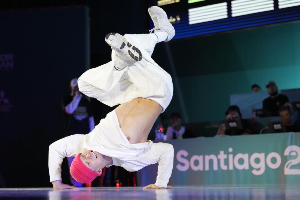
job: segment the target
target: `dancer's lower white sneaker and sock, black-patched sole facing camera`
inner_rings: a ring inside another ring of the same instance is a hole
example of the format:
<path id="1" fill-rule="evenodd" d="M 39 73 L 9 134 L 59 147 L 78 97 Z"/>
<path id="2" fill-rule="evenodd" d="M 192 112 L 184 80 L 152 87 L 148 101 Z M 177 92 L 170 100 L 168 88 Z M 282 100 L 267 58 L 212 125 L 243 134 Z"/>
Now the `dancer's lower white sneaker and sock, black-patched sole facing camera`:
<path id="1" fill-rule="evenodd" d="M 141 51 L 137 47 L 127 42 L 127 39 L 119 33 L 108 33 L 105 36 L 105 42 L 107 42 L 108 45 L 116 51 L 118 58 L 116 58 L 115 64 L 122 63 L 122 66 L 115 66 L 115 68 L 118 68 L 118 70 L 126 67 L 124 67 L 124 63 L 133 64 L 137 61 L 141 61 L 143 58 Z"/>

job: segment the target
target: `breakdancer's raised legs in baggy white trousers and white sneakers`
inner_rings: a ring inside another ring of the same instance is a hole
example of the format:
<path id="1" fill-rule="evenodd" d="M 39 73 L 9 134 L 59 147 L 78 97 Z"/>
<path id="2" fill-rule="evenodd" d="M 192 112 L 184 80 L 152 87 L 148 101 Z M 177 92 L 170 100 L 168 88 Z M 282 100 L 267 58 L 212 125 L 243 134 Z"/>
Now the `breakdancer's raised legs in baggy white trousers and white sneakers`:
<path id="1" fill-rule="evenodd" d="M 151 55 L 155 44 L 171 40 L 175 30 L 162 8 L 153 6 L 148 12 L 154 23 L 154 33 L 126 34 L 124 37 L 116 33 L 108 34 L 105 39 L 113 48 L 112 62 L 90 69 L 79 78 L 79 89 L 83 93 L 110 106 L 142 97 L 155 100 L 163 107 L 163 111 L 167 108 L 173 96 L 172 79 L 153 61 Z M 133 63 L 134 60 L 126 56 L 125 49 L 138 62 Z M 138 52 L 139 59 L 132 52 Z"/>

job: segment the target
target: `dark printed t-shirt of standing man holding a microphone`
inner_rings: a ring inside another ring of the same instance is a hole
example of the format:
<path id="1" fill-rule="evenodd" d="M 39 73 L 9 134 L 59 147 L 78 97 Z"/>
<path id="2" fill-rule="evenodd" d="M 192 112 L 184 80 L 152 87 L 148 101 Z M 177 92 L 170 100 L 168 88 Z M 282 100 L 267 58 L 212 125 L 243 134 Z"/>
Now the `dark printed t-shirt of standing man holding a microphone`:
<path id="1" fill-rule="evenodd" d="M 93 116 L 92 108 L 87 99 L 82 97 L 77 108 L 72 114 L 65 112 L 66 106 L 71 103 L 73 97 L 68 95 L 62 100 L 62 108 L 64 112 L 64 134 L 67 136 L 73 134 L 87 134 L 90 132 L 89 118 Z"/>

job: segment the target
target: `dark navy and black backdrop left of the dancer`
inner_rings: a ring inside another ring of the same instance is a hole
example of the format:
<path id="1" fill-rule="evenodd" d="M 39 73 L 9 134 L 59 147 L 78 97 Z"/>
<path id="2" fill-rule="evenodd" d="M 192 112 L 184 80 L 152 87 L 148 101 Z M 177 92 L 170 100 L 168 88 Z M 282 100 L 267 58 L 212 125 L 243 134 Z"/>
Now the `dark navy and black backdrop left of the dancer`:
<path id="1" fill-rule="evenodd" d="M 52 186 L 48 146 L 63 136 L 60 103 L 70 80 L 111 60 L 107 33 L 146 31 L 147 1 L 107 3 L 0 2 L 0 54 L 13 54 L 13 68 L 0 71 L 0 91 L 11 105 L 0 112 L 1 187 Z M 92 104 L 96 124 L 113 109 Z"/>

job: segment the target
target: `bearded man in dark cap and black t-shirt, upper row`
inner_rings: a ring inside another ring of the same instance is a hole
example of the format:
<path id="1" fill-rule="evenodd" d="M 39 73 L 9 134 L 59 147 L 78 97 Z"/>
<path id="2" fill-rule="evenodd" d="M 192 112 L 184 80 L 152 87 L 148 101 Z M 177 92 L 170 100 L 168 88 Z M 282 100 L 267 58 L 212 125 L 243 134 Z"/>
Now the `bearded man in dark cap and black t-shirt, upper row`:
<path id="1" fill-rule="evenodd" d="M 278 108 L 289 100 L 287 96 L 278 94 L 278 88 L 274 81 L 269 81 L 266 88 L 270 97 L 263 100 L 262 109 L 267 115 L 278 116 Z"/>

